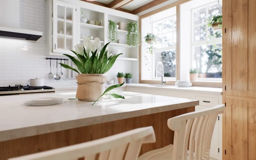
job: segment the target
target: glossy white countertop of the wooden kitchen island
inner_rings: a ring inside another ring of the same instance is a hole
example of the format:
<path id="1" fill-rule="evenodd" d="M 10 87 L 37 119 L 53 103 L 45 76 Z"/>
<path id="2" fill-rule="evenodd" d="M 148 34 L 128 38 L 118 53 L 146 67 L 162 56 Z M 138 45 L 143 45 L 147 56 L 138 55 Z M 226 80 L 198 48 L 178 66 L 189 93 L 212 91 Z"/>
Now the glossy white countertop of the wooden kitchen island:
<path id="1" fill-rule="evenodd" d="M 129 117 L 197 106 L 198 100 L 116 91 L 125 99 L 78 101 L 75 92 L 0 96 L 0 141 L 56 132 Z M 55 106 L 29 107 L 24 101 L 61 97 Z"/>

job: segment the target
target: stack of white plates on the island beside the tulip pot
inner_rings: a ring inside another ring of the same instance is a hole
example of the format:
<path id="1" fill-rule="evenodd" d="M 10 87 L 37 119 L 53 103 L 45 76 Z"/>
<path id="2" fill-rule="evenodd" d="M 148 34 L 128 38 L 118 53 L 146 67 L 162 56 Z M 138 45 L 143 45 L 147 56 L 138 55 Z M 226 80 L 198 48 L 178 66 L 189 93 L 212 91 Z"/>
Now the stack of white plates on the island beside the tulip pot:
<path id="1" fill-rule="evenodd" d="M 37 99 L 25 101 L 24 104 L 27 106 L 52 106 L 62 103 L 63 98 L 58 97 L 40 97 Z"/>

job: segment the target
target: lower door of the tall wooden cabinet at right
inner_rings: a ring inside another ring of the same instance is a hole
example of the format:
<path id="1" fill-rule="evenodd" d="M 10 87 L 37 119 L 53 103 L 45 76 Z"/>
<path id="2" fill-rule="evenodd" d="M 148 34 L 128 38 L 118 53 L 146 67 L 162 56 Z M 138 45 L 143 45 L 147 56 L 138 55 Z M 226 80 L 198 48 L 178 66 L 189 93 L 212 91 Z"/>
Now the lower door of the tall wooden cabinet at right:
<path id="1" fill-rule="evenodd" d="M 256 160 L 256 101 L 226 99 L 224 160 Z"/>

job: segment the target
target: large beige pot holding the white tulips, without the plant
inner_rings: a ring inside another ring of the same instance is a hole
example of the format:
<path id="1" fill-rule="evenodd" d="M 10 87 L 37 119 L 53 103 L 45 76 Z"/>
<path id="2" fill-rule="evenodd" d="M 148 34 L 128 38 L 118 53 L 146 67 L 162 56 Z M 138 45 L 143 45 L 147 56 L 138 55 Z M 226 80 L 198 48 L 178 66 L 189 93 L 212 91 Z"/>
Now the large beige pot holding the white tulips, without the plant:
<path id="1" fill-rule="evenodd" d="M 104 83 L 107 77 L 102 74 L 79 74 L 77 80 L 76 98 L 79 101 L 96 101 L 105 91 Z"/>

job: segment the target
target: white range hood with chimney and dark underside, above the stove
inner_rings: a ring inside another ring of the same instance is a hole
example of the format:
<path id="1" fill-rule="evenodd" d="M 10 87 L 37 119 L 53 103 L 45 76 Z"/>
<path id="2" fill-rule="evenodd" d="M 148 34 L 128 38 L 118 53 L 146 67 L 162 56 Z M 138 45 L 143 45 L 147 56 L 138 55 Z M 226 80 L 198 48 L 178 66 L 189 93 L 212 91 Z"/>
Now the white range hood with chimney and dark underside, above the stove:
<path id="1" fill-rule="evenodd" d="M 0 6 L 0 37 L 37 41 L 43 32 L 20 27 L 20 0 L 5 0 Z"/>

